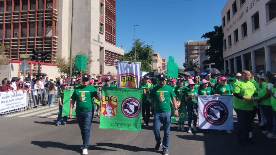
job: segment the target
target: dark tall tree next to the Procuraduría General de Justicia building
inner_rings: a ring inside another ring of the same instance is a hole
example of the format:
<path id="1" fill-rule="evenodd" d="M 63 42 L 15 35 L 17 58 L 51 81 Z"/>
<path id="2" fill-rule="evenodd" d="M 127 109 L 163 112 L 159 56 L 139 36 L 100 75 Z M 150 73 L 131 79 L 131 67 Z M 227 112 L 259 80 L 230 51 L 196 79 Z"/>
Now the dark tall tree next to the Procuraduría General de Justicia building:
<path id="1" fill-rule="evenodd" d="M 207 44 L 210 45 L 210 48 L 205 50 L 209 60 L 204 61 L 203 64 L 215 63 L 215 68 L 222 69 L 224 66 L 222 26 L 214 26 L 214 31 L 203 34 L 202 38 L 208 38 Z"/>

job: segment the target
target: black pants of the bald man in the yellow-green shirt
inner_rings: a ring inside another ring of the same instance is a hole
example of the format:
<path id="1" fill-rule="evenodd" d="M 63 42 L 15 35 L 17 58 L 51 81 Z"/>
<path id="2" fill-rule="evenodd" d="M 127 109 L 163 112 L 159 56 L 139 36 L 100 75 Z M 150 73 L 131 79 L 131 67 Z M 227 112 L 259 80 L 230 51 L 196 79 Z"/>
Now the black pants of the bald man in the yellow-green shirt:
<path id="1" fill-rule="evenodd" d="M 240 110 L 234 108 L 237 113 L 237 140 L 239 142 L 246 141 L 249 136 L 251 122 L 252 122 L 252 111 Z"/>

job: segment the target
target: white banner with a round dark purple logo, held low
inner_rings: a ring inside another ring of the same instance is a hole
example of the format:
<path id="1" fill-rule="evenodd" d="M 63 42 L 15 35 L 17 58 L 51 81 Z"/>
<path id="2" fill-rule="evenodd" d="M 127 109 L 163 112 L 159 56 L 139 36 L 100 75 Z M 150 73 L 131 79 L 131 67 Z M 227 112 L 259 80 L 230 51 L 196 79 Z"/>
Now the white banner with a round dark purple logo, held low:
<path id="1" fill-rule="evenodd" d="M 200 129 L 233 130 L 233 96 L 198 96 Z"/>

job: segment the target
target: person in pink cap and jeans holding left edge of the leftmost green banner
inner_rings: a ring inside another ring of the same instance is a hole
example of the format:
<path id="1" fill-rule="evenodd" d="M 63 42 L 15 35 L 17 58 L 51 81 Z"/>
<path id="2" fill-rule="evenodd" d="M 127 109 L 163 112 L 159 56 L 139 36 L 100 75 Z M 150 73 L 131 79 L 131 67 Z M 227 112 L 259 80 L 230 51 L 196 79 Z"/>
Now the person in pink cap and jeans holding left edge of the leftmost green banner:
<path id="1" fill-rule="evenodd" d="M 62 117 L 62 106 L 63 106 L 63 98 L 64 98 L 64 93 L 63 91 L 67 89 L 67 84 L 62 83 L 62 87 L 60 88 L 60 92 L 58 93 L 57 97 L 59 98 L 59 103 L 58 104 L 58 115 L 57 115 L 57 121 L 55 123 L 56 126 L 59 126 L 61 124 L 61 117 Z M 63 116 L 63 125 L 66 125 L 68 116 Z"/>

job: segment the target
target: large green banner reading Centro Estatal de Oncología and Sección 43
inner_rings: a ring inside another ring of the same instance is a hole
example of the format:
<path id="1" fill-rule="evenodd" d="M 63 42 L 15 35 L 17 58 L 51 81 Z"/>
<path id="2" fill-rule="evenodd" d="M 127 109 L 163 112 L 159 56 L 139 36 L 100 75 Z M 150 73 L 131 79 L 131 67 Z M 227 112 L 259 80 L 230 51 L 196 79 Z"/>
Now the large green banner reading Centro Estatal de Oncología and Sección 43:
<path id="1" fill-rule="evenodd" d="M 141 131 L 143 89 L 103 87 L 100 129 Z"/>

